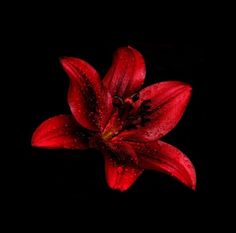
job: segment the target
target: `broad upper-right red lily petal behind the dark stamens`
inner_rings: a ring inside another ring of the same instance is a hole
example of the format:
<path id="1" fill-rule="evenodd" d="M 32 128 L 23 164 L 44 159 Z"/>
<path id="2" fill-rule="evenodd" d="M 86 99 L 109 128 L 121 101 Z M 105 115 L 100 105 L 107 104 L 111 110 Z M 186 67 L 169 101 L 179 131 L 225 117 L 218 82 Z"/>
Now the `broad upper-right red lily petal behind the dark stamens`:
<path id="1" fill-rule="evenodd" d="M 140 92 L 136 109 L 144 100 L 151 100 L 150 119 L 144 127 L 124 131 L 119 138 L 130 141 L 154 141 L 171 131 L 181 119 L 192 88 L 182 82 L 169 81 L 149 86 Z"/>

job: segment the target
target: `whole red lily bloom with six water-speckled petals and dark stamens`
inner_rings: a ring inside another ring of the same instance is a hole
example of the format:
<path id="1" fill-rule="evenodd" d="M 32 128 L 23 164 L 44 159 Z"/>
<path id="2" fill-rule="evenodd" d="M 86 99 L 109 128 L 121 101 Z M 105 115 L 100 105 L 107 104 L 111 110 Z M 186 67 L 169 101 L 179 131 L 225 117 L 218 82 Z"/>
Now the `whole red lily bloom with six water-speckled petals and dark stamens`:
<path id="1" fill-rule="evenodd" d="M 127 190 L 144 169 L 161 171 L 196 188 L 195 170 L 177 148 L 160 141 L 182 117 L 191 87 L 161 82 L 140 91 L 145 78 L 142 55 L 120 48 L 101 81 L 97 71 L 78 58 L 62 58 L 70 78 L 68 102 L 72 115 L 43 122 L 32 145 L 42 148 L 96 148 L 105 159 L 112 189 Z"/>

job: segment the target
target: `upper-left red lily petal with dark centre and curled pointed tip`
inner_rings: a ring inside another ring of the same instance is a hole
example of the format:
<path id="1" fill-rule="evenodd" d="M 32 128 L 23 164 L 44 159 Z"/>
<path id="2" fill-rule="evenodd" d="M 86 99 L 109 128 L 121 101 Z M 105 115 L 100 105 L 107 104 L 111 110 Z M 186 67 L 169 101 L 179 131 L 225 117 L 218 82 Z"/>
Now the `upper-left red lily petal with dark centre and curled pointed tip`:
<path id="1" fill-rule="evenodd" d="M 63 58 L 61 63 L 71 80 L 68 93 L 71 112 L 83 127 L 101 130 L 110 116 L 112 100 L 99 74 L 78 58 Z"/>

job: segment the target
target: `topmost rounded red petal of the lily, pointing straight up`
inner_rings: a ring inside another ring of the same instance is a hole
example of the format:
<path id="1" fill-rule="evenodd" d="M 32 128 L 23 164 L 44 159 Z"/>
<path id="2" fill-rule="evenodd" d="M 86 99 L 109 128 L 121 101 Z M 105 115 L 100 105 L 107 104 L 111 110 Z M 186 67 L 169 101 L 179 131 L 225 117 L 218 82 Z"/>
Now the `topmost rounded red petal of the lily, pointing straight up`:
<path id="1" fill-rule="evenodd" d="M 106 74 L 103 84 L 111 95 L 131 96 L 143 85 L 146 75 L 142 55 L 131 47 L 117 50 L 113 64 Z"/>

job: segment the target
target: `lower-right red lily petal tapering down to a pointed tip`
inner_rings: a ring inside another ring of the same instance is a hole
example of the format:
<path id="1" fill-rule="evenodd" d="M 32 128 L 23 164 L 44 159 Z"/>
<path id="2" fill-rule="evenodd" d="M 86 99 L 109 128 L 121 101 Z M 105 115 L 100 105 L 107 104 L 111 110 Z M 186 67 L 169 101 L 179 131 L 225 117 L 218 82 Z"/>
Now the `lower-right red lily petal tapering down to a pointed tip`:
<path id="1" fill-rule="evenodd" d="M 193 164 L 180 150 L 162 141 L 130 143 L 139 156 L 139 166 L 169 174 L 196 189 L 196 173 Z"/>

